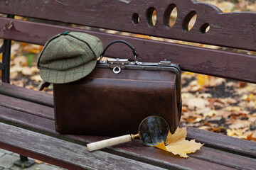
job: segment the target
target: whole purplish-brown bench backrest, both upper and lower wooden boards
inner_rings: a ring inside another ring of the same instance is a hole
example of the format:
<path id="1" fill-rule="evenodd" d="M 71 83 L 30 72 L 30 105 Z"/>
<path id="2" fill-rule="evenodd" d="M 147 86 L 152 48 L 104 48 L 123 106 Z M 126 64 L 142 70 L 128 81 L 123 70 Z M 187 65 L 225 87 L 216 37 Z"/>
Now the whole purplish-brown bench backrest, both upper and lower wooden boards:
<path id="1" fill-rule="evenodd" d="M 170 26 L 170 14 L 174 8 L 177 9 L 177 18 L 174 26 Z M 155 24 L 152 22 L 154 12 Z M 170 60 L 179 63 L 184 71 L 256 83 L 255 55 L 139 38 L 149 35 L 256 51 L 256 13 L 223 13 L 213 5 L 194 0 L 8 0 L 0 1 L 0 13 L 135 34 L 134 38 L 0 18 L 0 38 L 44 45 L 50 37 L 64 30 L 83 31 L 100 38 L 105 46 L 112 40 L 127 40 L 137 49 L 138 59 L 142 62 Z M 195 15 L 196 23 L 189 30 L 188 23 Z M 133 58 L 132 52 L 124 45 L 113 45 L 106 56 Z"/>

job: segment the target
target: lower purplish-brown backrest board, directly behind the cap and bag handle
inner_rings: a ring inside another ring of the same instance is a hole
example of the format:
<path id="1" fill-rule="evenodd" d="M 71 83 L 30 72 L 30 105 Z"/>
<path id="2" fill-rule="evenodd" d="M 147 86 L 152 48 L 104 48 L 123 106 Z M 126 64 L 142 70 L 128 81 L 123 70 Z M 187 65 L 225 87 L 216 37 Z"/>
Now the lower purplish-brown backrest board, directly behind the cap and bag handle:
<path id="1" fill-rule="evenodd" d="M 50 26 L 43 23 L 16 21 L 9 18 L 0 18 L 0 28 L 8 27 L 7 23 L 11 21 L 13 21 L 12 28 L 6 29 L 4 32 L 0 30 L 1 38 L 44 45 L 50 37 L 63 33 L 64 30 L 82 31 L 100 38 L 104 46 L 113 40 L 127 40 L 137 49 L 139 52 L 138 59 L 142 62 L 170 60 L 181 64 L 181 69 L 185 71 L 256 83 L 256 56 L 62 26 Z M 132 51 L 122 44 L 110 47 L 106 56 L 133 59 Z"/>

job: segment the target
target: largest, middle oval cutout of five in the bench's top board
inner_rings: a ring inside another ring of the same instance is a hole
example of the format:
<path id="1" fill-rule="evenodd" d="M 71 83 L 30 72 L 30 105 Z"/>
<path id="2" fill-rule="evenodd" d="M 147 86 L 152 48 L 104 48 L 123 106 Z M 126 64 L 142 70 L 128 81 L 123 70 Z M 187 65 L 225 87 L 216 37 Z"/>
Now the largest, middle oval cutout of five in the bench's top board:
<path id="1" fill-rule="evenodd" d="M 177 20 L 177 7 L 175 4 L 170 4 L 164 12 L 164 25 L 172 28 Z"/>

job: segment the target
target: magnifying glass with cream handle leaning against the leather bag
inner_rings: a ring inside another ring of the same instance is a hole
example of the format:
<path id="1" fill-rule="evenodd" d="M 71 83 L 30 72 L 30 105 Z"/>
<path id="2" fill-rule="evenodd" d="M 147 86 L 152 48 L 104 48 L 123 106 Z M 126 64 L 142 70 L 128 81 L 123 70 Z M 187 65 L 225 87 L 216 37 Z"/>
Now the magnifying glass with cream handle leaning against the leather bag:
<path id="1" fill-rule="evenodd" d="M 139 133 L 137 135 L 123 135 L 120 137 L 114 137 L 107 140 L 102 140 L 98 142 L 93 142 L 87 144 L 87 149 L 89 152 L 95 151 L 97 149 L 103 149 L 105 147 L 110 147 L 114 145 L 119 145 L 124 142 L 129 142 L 139 137 L 144 144 L 147 146 L 157 145 L 157 142 L 161 143 L 162 140 L 166 141 L 169 132 L 169 125 L 166 120 L 158 115 L 151 115 L 144 120 L 139 125 Z"/>

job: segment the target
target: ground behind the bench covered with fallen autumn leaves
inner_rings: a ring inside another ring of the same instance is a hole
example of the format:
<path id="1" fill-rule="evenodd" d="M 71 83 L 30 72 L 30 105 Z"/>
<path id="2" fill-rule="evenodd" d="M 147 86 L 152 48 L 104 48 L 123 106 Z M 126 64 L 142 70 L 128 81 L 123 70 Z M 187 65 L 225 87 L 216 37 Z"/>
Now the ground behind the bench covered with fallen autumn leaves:
<path id="1" fill-rule="evenodd" d="M 223 12 L 256 12 L 255 0 L 200 1 L 214 4 Z M 145 38 L 141 35 L 135 36 Z M 190 42 L 178 43 L 194 45 Z M 11 84 L 37 90 L 41 77 L 36 68 L 36 61 L 42 48 L 41 45 L 24 42 L 12 43 Z M 241 52 L 240 50 L 232 51 Z M 256 55 L 255 52 L 246 53 Z M 52 86 L 46 89 L 46 92 L 53 94 Z M 183 72 L 182 98 L 181 123 L 183 125 L 256 141 L 256 84 Z"/>

